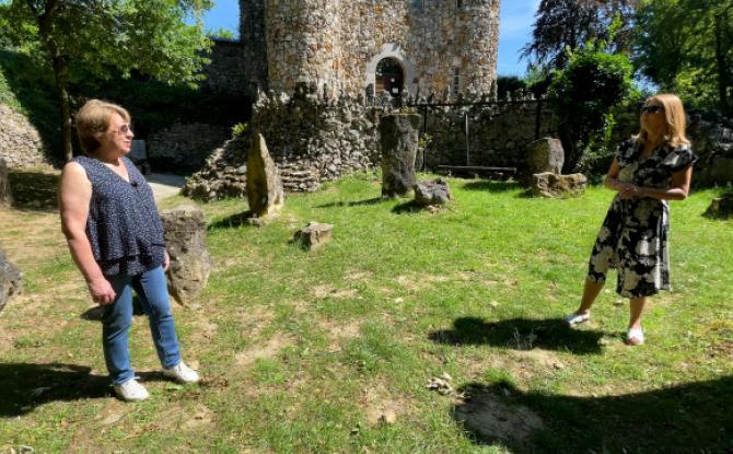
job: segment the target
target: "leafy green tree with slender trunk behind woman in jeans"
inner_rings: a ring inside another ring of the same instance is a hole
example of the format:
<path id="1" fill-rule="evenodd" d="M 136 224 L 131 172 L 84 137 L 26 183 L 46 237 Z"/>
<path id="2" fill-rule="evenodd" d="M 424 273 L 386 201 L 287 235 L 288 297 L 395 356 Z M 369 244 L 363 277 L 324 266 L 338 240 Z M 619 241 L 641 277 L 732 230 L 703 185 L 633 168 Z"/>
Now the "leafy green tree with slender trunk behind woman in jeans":
<path id="1" fill-rule="evenodd" d="M 83 74 L 194 83 L 208 62 L 200 15 L 211 0 L 0 0 L 0 43 L 50 66 L 61 110 L 63 155 L 72 156 L 69 85 Z M 195 25 L 185 19 L 196 18 Z"/>

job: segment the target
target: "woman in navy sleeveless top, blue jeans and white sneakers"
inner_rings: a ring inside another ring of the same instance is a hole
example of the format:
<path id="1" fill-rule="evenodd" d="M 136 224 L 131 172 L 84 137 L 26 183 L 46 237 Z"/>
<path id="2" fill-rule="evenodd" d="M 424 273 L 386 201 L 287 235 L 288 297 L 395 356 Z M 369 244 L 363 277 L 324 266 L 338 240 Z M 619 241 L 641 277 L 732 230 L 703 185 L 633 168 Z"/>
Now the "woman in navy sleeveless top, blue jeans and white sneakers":
<path id="1" fill-rule="evenodd" d="M 130 152 L 130 115 L 91 100 L 75 117 L 86 155 L 66 164 L 59 205 L 61 228 L 94 302 L 102 305 L 102 345 L 115 392 L 143 400 L 148 391 L 130 366 L 127 335 L 132 290 L 148 314 L 163 373 L 182 383 L 199 376 L 182 360 L 164 269 L 170 258 L 153 194 L 125 155 Z"/>

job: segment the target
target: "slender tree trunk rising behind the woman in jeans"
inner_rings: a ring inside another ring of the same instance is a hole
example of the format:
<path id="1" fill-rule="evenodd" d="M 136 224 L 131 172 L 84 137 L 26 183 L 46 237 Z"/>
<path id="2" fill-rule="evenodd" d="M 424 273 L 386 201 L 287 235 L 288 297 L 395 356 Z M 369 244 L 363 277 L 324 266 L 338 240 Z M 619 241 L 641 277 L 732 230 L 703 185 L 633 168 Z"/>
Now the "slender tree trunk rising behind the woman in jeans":
<path id="1" fill-rule="evenodd" d="M 54 68 L 54 79 L 56 81 L 56 90 L 59 97 L 59 106 L 61 107 L 61 135 L 63 138 L 63 158 L 66 161 L 73 158 L 71 150 L 71 105 L 69 103 L 69 65 L 67 57 L 61 53 L 61 49 L 54 36 L 54 21 L 58 12 L 58 0 L 46 0 L 44 12 L 37 16 L 38 32 L 40 38 L 46 46 L 46 50 L 51 59 L 51 67 Z"/>

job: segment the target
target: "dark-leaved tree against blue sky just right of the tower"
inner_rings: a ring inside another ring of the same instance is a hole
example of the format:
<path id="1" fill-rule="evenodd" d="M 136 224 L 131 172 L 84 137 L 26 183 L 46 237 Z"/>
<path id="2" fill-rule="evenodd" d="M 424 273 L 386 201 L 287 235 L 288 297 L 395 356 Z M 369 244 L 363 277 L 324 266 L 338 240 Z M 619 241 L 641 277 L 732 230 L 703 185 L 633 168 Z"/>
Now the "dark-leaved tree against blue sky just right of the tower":
<path id="1" fill-rule="evenodd" d="M 568 63 L 566 49 L 581 49 L 593 39 L 608 42 L 612 53 L 626 54 L 637 3 L 638 0 L 542 0 L 532 42 L 522 49 L 522 57 L 534 59 L 535 66 L 561 69 Z M 612 34 L 614 21 L 618 25 Z"/>

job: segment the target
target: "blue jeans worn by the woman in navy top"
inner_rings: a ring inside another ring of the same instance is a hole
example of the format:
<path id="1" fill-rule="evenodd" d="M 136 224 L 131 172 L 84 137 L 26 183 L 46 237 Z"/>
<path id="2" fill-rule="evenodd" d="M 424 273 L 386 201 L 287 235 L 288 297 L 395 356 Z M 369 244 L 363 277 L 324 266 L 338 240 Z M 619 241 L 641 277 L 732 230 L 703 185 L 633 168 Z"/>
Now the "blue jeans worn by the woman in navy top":
<path id="1" fill-rule="evenodd" d="M 162 267 L 137 276 L 107 278 L 117 296 L 112 304 L 104 305 L 102 316 L 102 345 L 104 360 L 115 385 L 135 377 L 130 366 L 127 333 L 132 324 L 132 289 L 148 314 L 150 331 L 163 368 L 173 368 L 181 362 L 178 338 L 168 302 L 168 290 Z"/>

